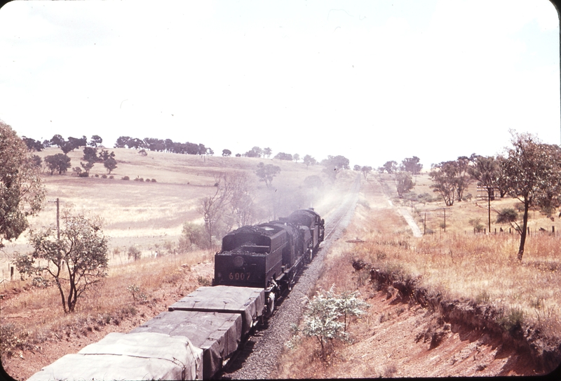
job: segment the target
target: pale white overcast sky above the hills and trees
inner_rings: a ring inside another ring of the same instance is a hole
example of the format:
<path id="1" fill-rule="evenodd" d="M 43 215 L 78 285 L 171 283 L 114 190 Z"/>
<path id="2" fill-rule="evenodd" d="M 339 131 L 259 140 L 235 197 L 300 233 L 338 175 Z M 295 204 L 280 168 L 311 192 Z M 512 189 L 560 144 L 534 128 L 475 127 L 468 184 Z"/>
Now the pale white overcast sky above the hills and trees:
<path id="1" fill-rule="evenodd" d="M 0 9 L 0 119 L 100 135 L 424 168 L 560 144 L 548 0 L 14 1 Z M 117 158 L 118 159 L 118 158 Z"/>

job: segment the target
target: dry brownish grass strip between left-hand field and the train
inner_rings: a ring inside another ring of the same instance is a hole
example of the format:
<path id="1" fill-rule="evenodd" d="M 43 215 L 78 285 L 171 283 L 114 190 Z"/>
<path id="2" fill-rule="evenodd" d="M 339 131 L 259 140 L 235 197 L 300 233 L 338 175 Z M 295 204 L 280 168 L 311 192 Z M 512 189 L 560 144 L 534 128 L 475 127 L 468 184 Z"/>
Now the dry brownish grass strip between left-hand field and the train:
<path id="1" fill-rule="evenodd" d="M 208 262 L 210 258 L 210 253 L 200 251 L 143 258 L 114 266 L 102 283 L 79 299 L 72 314 L 63 312 L 60 293 L 55 286 L 36 288 L 29 286 L 29 281 L 13 281 L 9 286 L 11 290 L 17 290 L 18 295 L 2 302 L 1 326 L 3 339 L 9 335 L 15 340 L 4 343 L 4 354 L 10 354 L 16 347 L 33 349 L 53 335 L 80 335 L 83 330 L 98 330 L 109 323 L 119 325 L 123 318 L 137 313 L 137 302 L 128 290 L 131 285 L 140 288 L 147 304 L 155 305 L 166 290 L 170 292 L 172 289 L 178 295 L 187 294 L 200 286 L 200 280 L 190 273 L 191 267 L 201 261 Z M 210 281 L 210 276 L 207 277 L 205 281 Z M 4 292 L 10 293 L 11 290 L 4 288 Z"/>

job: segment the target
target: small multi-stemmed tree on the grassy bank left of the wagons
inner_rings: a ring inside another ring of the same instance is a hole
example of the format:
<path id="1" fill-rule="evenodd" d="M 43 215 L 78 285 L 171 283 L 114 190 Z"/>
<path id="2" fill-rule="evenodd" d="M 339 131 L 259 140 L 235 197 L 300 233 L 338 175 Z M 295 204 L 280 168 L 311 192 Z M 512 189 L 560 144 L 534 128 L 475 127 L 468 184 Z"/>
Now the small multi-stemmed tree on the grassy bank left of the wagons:
<path id="1" fill-rule="evenodd" d="M 48 274 L 55 279 L 65 313 L 73 312 L 78 298 L 107 276 L 107 238 L 99 217 L 62 213 L 60 236 L 54 227 L 30 232 L 34 251 L 18 254 L 15 265 L 24 276 Z"/>

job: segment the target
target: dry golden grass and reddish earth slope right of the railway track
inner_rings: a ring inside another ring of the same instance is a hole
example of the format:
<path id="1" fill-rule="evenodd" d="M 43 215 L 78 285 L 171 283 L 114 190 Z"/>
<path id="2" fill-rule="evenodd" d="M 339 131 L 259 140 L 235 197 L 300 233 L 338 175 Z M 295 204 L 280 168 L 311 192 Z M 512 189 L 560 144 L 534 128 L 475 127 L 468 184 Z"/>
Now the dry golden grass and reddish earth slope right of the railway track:
<path id="1" fill-rule="evenodd" d="M 380 180 L 388 186 L 381 187 Z M 428 176 L 420 175 L 417 177 L 417 186 L 412 191 L 417 194 L 432 193 L 428 185 Z M 472 189 L 469 192 L 475 194 Z M 388 203 L 388 199 L 392 201 L 393 206 Z M 403 327 L 410 327 L 405 329 L 415 330 L 416 326 L 410 326 L 409 321 L 413 319 L 410 315 L 424 312 L 419 312 L 411 305 L 400 307 L 400 304 L 389 303 L 390 300 L 384 305 L 372 288 L 368 272 L 355 272 L 352 267 L 353 260 L 364 260 L 379 269 L 398 273 L 405 279 L 414 279 L 419 287 L 426 288 L 432 295 L 440 293 L 445 300 L 473 300 L 478 305 L 502 309 L 505 324 L 509 321 L 512 323 L 512 319 L 521 319 L 526 326 L 538 328 L 543 335 L 557 337 L 558 341 L 561 336 L 560 236 L 532 234 L 527 241 L 525 258 L 520 263 L 516 260 L 520 239 L 518 234 L 473 234 L 468 220 L 487 215 L 487 210 L 476 206 L 476 202 L 480 203 L 473 199 L 452 206 L 452 218 L 447 220 L 446 233 L 432 221 L 434 234 L 414 238 L 410 227 L 396 210 L 396 207 L 401 207 L 411 212 L 411 203 L 397 198 L 390 176 L 383 175 L 380 178 L 379 175 L 370 175 L 368 181 L 363 182 L 351 225 L 347 227 L 344 237 L 332 246 L 330 253 L 327 253 L 325 271 L 318 282 L 318 290 L 327 290 L 332 285 L 336 286 L 339 292 L 360 290 L 363 298 L 377 305 L 377 308 L 370 308 L 365 316 L 355 319 L 350 326 L 352 343 L 345 345 L 334 342 L 334 351 L 326 361 L 320 361 L 318 343 L 314 338 L 300 337 L 296 349 L 285 349 L 275 377 L 293 377 L 293 369 L 302 369 L 299 377 L 303 378 L 331 378 L 342 375 L 434 377 L 533 374 L 532 368 L 524 370 L 527 366 L 525 360 L 513 360 L 511 364 L 515 368 L 520 367 L 516 369 L 501 363 L 503 357 L 492 352 L 496 351 L 497 344 L 485 349 L 489 351 L 487 356 L 491 360 L 488 361 L 495 361 L 493 364 L 487 362 L 480 366 L 479 369 L 487 367 L 487 373 L 469 369 L 468 366 L 473 368 L 474 361 L 468 361 L 465 365 L 457 363 L 453 367 L 454 361 L 450 363 L 445 360 L 447 356 L 454 358 L 454 354 L 457 356 L 458 353 L 469 352 L 470 340 L 458 339 L 453 344 L 457 346 L 456 349 L 442 348 L 441 352 L 428 352 L 428 345 L 426 349 L 419 349 L 414 335 L 409 337 L 408 333 L 399 328 L 393 330 L 392 326 L 386 326 L 384 321 L 398 319 L 398 323 L 394 325 L 403 324 Z M 497 208 L 495 205 L 498 204 L 498 208 L 502 208 L 514 203 L 513 199 L 504 199 L 494 201 L 492 206 Z M 412 215 L 417 216 L 421 231 L 424 219 L 419 218 L 419 215 L 424 213 L 424 210 L 440 207 L 442 203 L 439 202 L 413 204 Z M 546 226 L 546 223 L 551 225 L 550 219 L 541 217 L 538 212 L 532 222 L 534 225 L 531 226 L 534 227 Z M 497 230 L 503 227 L 503 230 L 508 231 L 505 225 L 492 224 L 492 232 L 494 227 L 497 227 Z M 557 228 L 555 231 L 558 231 Z M 350 242 L 358 240 L 364 242 Z M 385 294 L 382 295 L 382 300 L 384 299 Z M 380 309 L 381 305 L 386 307 Z M 403 314 L 403 319 L 398 317 L 400 314 Z M 431 319 L 431 315 L 428 315 L 428 312 L 426 314 L 424 320 Z M 395 335 L 395 340 L 380 349 L 379 340 L 385 340 L 384 333 L 388 330 Z M 464 335 L 467 337 L 468 333 Z M 405 336 L 410 341 L 406 341 L 405 347 L 402 347 L 402 337 Z M 358 348 L 360 356 L 357 354 Z M 450 352 L 447 352 L 448 350 Z M 377 356 L 384 358 L 380 359 Z M 435 363 L 438 360 L 434 359 L 439 357 L 442 361 Z M 419 358 L 424 360 L 419 363 Z M 475 356 L 473 359 L 475 360 Z M 428 363 L 434 365 L 428 366 Z M 399 365 L 396 367 L 396 364 Z"/>

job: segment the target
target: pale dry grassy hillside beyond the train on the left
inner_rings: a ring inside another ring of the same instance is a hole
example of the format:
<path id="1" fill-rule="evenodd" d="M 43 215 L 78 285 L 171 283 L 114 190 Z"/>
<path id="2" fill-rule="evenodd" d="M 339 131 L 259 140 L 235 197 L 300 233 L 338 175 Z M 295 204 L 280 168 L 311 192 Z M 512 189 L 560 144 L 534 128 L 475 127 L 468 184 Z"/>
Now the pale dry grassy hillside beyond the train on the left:
<path id="1" fill-rule="evenodd" d="M 214 185 L 221 174 L 248 176 L 250 189 L 259 205 L 256 222 L 287 215 L 296 208 L 321 208 L 317 192 L 306 189 L 304 179 L 320 175 L 325 185 L 329 184 L 321 174 L 323 167 L 306 168 L 303 163 L 290 161 L 165 152 L 148 152 L 147 156 L 142 156 L 135 149 L 125 148 L 109 149 L 111 151 L 115 152 L 117 160 L 112 179 L 102 178 L 107 175 L 102 163 L 95 164 L 89 178 L 73 176 L 72 170 L 65 175 L 43 171 L 49 202 L 39 216 L 30 220 L 32 228 L 56 223 L 53 201 L 58 198 L 61 209 L 73 206 L 75 210 L 85 210 L 104 219 L 104 232 L 111 237 L 111 252 L 124 253 L 129 246 L 137 246 L 142 255 L 154 255 L 158 247 L 177 242 L 184 222 L 203 223 L 197 210 L 200 200 L 215 193 Z M 44 158 L 60 152 L 58 148 L 48 148 L 38 154 Z M 81 149 L 68 154 L 72 168 L 80 166 L 82 155 Z M 254 173 L 260 161 L 281 169 L 270 188 L 259 182 Z M 122 180 L 125 176 L 130 180 Z M 140 178 L 144 181 L 134 180 Z M 156 182 L 147 182 L 147 179 Z M 6 253 L 27 250 L 26 242 L 23 234 L 18 241 L 8 243 Z"/>

